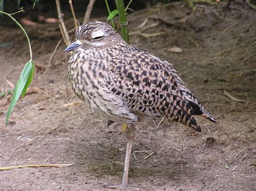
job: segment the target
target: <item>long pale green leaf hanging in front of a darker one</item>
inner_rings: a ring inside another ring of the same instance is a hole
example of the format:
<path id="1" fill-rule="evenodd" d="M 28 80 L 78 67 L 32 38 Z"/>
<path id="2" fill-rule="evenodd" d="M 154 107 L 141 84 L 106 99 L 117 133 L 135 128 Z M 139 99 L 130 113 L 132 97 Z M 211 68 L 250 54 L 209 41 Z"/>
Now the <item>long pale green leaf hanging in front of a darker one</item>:
<path id="1" fill-rule="evenodd" d="M 26 82 L 28 81 L 32 68 L 33 68 L 33 62 L 32 60 L 29 60 L 28 62 L 26 62 L 26 65 L 24 66 L 22 73 L 19 76 L 19 80 L 15 86 L 14 95 L 12 96 L 10 107 L 6 114 L 5 126 L 7 126 L 8 124 L 11 111 L 12 109 L 14 109 L 14 105 L 17 103 L 19 96 L 21 96 L 22 94 L 22 91 L 26 85 Z"/>

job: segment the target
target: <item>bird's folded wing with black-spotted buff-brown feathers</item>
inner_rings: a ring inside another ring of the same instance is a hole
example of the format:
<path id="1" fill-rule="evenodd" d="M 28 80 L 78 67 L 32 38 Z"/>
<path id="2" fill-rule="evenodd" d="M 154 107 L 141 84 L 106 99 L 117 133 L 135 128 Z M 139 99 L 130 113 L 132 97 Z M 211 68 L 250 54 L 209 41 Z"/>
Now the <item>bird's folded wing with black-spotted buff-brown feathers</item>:
<path id="1" fill-rule="evenodd" d="M 106 84 L 134 113 L 183 122 L 200 131 L 193 107 L 180 90 L 184 82 L 169 63 L 146 52 L 123 53 L 109 62 Z"/>

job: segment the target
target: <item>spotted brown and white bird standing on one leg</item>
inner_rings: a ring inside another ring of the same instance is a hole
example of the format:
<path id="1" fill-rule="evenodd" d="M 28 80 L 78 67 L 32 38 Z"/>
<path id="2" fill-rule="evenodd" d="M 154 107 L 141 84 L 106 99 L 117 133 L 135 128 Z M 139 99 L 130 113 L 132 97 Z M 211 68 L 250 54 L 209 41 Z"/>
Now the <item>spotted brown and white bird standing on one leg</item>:
<path id="1" fill-rule="evenodd" d="M 91 21 L 76 30 L 68 77 L 73 91 L 99 117 L 125 127 L 127 145 L 122 183 L 106 188 L 126 188 L 136 126 L 164 117 L 201 132 L 194 116 L 216 122 L 186 86 L 172 63 L 142 48 L 127 44 L 102 21 Z"/>

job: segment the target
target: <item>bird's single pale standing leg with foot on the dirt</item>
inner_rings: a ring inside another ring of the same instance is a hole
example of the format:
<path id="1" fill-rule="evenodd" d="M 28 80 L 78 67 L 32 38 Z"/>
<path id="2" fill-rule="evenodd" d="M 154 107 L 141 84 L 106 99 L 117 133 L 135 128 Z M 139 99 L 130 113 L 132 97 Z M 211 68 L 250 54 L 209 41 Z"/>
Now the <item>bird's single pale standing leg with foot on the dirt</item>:
<path id="1" fill-rule="evenodd" d="M 129 126 L 126 131 L 126 138 L 127 138 L 127 145 L 126 145 L 126 153 L 125 153 L 125 162 L 124 162 L 124 172 L 123 172 L 123 179 L 120 185 L 104 185 L 105 188 L 126 188 L 128 185 L 128 173 L 129 173 L 129 164 L 130 164 L 130 157 L 132 151 L 132 144 L 135 135 L 135 127 Z"/>

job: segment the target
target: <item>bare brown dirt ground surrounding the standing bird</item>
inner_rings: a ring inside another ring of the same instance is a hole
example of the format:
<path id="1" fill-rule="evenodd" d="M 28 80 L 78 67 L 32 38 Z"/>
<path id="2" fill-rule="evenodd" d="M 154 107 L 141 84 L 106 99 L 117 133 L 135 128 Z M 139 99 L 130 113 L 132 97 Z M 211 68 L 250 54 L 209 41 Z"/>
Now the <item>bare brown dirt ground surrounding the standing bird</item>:
<path id="1" fill-rule="evenodd" d="M 138 126 L 129 189 L 255 190 L 256 12 L 242 2 L 233 3 L 228 11 L 223 8 L 222 3 L 197 5 L 185 24 L 161 23 L 144 31 L 165 32 L 160 36 L 131 36 L 131 44 L 173 63 L 218 122 L 198 118 L 203 128 L 200 134 L 177 123 L 156 128 L 159 121 L 150 121 Z M 134 12 L 128 16 L 130 32 L 149 16 L 177 20 L 188 15 L 181 3 Z M 149 19 L 147 25 L 154 22 Z M 71 18 L 67 25 L 72 29 Z M 119 183 L 126 146 L 122 125 L 107 127 L 84 104 L 65 105 L 79 100 L 66 75 L 64 43 L 49 64 L 61 37 L 57 24 L 26 30 L 37 66 L 32 87 L 43 92 L 19 100 L 7 128 L 10 96 L 0 98 L 0 166 L 72 165 L 1 171 L 0 189 L 103 189 L 104 183 Z M 5 78 L 17 81 L 29 52 L 16 27 L 1 27 L 0 33 L 1 44 L 12 43 L 0 48 L 0 87 L 6 90 L 10 87 Z M 174 46 L 183 52 L 170 52 Z M 227 97 L 224 89 L 245 102 Z"/>

